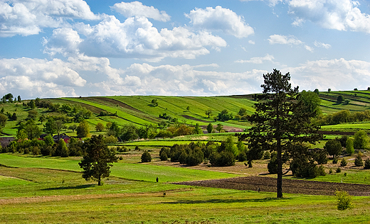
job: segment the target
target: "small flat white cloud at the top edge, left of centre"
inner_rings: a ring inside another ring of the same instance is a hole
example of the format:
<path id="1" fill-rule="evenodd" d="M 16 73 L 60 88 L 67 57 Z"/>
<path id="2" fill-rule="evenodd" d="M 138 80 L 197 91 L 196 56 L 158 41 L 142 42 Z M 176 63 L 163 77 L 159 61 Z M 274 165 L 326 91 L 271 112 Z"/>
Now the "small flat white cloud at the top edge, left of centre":
<path id="1" fill-rule="evenodd" d="M 139 1 L 132 2 L 121 2 L 112 6 L 112 9 L 115 9 L 118 13 L 121 13 L 123 16 L 144 16 L 147 18 L 153 18 L 156 21 L 166 22 L 169 21 L 171 16 L 169 16 L 165 11 L 159 11 L 153 6 L 144 6 Z"/>

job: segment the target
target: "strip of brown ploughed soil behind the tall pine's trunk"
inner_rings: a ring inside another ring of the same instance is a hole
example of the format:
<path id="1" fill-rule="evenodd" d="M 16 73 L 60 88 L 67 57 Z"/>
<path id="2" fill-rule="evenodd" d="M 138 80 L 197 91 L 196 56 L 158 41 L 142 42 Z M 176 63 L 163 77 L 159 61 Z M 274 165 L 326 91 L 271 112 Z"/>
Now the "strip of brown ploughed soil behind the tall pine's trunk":
<path id="1" fill-rule="evenodd" d="M 236 177 L 206 181 L 186 181 L 175 184 L 207 186 L 222 189 L 237 189 L 276 192 L 276 179 L 272 177 Z M 324 181 L 283 179 L 282 192 L 289 194 L 334 195 L 335 190 L 344 190 L 352 196 L 370 196 L 370 184 L 344 184 Z"/>

